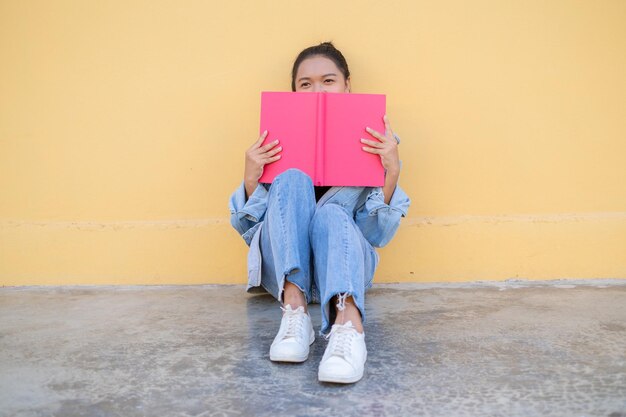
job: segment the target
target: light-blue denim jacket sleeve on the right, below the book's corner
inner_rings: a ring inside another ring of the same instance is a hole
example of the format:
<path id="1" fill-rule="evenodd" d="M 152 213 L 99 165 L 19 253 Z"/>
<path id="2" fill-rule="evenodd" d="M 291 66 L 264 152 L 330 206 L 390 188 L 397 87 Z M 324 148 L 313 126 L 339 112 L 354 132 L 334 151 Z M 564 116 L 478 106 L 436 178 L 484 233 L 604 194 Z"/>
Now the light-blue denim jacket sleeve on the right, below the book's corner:
<path id="1" fill-rule="evenodd" d="M 396 186 L 389 204 L 385 204 L 380 187 L 372 188 L 365 203 L 357 209 L 355 222 L 363 236 L 375 247 L 383 247 L 391 241 L 405 217 L 411 200 L 399 185 Z"/>

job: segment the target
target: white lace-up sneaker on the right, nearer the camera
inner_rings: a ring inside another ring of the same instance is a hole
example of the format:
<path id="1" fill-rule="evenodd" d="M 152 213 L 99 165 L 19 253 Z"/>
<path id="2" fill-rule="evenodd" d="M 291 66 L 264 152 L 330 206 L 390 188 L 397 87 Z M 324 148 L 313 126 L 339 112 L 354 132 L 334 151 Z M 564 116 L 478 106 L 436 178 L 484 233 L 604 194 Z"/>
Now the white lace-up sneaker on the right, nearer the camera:
<path id="1" fill-rule="evenodd" d="M 349 321 L 333 325 L 326 338 L 330 338 L 330 341 L 320 362 L 318 379 L 349 384 L 363 378 L 367 360 L 365 333 L 357 332 Z"/>

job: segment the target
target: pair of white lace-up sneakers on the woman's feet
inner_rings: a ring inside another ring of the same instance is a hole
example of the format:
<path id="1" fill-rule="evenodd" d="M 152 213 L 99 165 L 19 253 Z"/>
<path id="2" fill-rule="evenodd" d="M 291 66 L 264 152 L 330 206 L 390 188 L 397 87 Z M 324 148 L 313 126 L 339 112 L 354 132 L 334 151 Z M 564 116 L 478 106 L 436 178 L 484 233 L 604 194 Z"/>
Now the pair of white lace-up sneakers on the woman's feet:
<path id="1" fill-rule="evenodd" d="M 296 310 L 287 304 L 278 334 L 270 347 L 270 359 L 276 362 L 304 362 L 309 346 L 315 341 L 311 317 L 303 307 Z M 334 324 L 325 336 L 328 345 L 319 365 L 318 379 L 323 382 L 349 384 L 363 377 L 367 349 L 365 333 L 359 333 L 352 321 Z"/>

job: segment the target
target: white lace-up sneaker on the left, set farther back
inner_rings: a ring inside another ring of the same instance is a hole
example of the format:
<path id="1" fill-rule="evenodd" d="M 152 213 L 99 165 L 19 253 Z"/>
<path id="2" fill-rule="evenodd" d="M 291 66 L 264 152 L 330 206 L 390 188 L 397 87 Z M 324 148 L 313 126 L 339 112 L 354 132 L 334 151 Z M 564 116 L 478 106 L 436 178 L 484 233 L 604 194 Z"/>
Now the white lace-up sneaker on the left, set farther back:
<path id="1" fill-rule="evenodd" d="M 315 341 L 311 316 L 300 306 L 285 308 L 280 329 L 270 347 L 270 359 L 276 362 L 304 362 L 309 357 L 309 345 Z"/>

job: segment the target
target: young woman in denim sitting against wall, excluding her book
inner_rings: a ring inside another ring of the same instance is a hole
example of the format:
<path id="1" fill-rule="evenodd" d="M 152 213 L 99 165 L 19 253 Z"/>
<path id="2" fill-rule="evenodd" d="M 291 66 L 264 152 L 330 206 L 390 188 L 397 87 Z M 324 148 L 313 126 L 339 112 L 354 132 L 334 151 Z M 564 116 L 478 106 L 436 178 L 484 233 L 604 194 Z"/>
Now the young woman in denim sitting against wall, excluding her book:
<path id="1" fill-rule="evenodd" d="M 350 72 L 341 52 L 329 42 L 303 50 L 293 65 L 291 90 L 349 93 Z M 384 123 L 384 133 L 367 128 L 370 137 L 361 140 L 363 152 L 380 156 L 383 187 L 314 187 L 295 169 L 271 185 L 259 184 L 263 167 L 282 151 L 278 140 L 262 146 L 266 131 L 246 151 L 243 183 L 230 199 L 231 223 L 250 246 L 247 290 L 265 290 L 284 305 L 272 361 L 307 359 L 315 340 L 307 304 L 321 303 L 320 334 L 330 340 L 320 381 L 362 378 L 365 291 L 378 263 L 373 247 L 391 240 L 410 204 L 398 186 L 399 139 L 386 116 Z"/>

